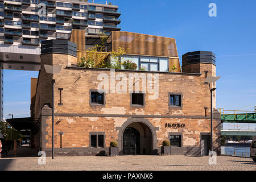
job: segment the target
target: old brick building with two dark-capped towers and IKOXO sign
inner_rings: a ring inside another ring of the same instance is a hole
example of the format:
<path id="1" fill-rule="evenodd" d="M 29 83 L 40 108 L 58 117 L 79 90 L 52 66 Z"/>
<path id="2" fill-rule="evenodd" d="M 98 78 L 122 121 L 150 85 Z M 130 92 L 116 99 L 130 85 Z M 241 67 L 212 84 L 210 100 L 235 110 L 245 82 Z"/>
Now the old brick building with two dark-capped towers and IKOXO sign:
<path id="1" fill-rule="evenodd" d="M 109 39 L 109 49 L 129 47 L 124 59 L 146 71 L 77 67 L 79 43 L 42 43 L 41 70 L 31 103 L 31 116 L 40 122 L 40 131 L 32 139 L 35 147 L 51 155 L 51 81 L 55 80 L 55 155 L 108 155 L 111 141 L 119 143 L 121 155 L 152 155 L 160 153 L 163 140 L 170 140 L 171 154 L 206 155 L 210 147 L 210 91 L 204 80 L 216 74 L 214 54 L 189 52 L 183 55 L 182 72 L 179 64 L 172 71 L 173 61 L 179 63 L 175 39 L 130 32 L 112 32 Z M 62 68 L 51 75 L 44 64 Z M 213 101 L 216 107 L 215 94 Z M 216 151 L 219 138 L 220 113 L 214 110 Z"/>

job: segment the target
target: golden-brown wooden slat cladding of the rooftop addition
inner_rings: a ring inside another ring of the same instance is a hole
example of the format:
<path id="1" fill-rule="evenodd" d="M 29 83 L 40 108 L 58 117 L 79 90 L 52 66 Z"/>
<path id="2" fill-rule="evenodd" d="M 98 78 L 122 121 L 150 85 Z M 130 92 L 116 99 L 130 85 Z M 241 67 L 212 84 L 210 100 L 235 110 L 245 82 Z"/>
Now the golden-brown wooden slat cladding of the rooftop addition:
<path id="1" fill-rule="evenodd" d="M 85 50 L 85 39 L 85 30 L 73 30 L 69 38 L 69 41 L 77 44 L 77 61 L 80 61 L 82 57 L 92 56 L 89 51 Z M 181 72 L 176 42 L 173 38 L 112 31 L 107 42 L 112 44 L 113 51 L 117 51 L 119 47 L 125 48 L 127 55 L 168 57 L 169 70 Z M 93 59 L 96 60 L 96 64 L 99 64 L 101 60 L 106 60 L 108 56 L 109 52 L 97 52 Z M 174 64 L 175 71 L 171 70 Z"/>

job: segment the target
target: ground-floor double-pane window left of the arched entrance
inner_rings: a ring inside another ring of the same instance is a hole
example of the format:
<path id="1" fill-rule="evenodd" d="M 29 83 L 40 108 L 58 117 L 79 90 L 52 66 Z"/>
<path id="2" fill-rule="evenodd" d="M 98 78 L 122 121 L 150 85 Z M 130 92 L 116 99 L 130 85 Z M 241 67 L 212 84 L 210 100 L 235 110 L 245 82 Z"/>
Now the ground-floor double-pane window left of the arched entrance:
<path id="1" fill-rule="evenodd" d="M 105 147 L 105 132 L 90 132 L 90 147 L 104 148 Z"/>

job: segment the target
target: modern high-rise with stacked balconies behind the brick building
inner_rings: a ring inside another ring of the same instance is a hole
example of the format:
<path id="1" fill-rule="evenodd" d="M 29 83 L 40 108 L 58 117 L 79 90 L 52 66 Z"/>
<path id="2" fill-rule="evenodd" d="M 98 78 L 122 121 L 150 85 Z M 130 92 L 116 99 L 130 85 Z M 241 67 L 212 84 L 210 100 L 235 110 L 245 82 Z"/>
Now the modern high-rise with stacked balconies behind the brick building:
<path id="1" fill-rule="evenodd" d="M 0 63 L 3 69 L 39 71 L 42 41 L 67 40 L 79 29 L 85 30 L 86 46 L 92 46 L 103 32 L 121 29 L 120 15 L 111 3 L 0 0 Z"/>

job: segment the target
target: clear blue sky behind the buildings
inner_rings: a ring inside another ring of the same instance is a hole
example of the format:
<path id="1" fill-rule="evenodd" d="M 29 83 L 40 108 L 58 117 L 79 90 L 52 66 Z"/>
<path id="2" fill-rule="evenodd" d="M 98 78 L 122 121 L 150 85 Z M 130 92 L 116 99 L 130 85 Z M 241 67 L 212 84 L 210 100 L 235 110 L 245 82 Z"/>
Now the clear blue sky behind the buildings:
<path id="1" fill-rule="evenodd" d="M 91 1 L 89 1 L 91 2 Z M 104 2 L 104 1 L 94 1 Z M 254 110 L 256 105 L 256 1 L 108 1 L 119 6 L 121 31 L 176 39 L 179 57 L 190 51 L 216 54 L 217 107 Z M 217 17 L 210 17 L 216 3 Z M 181 60 L 180 60 L 181 61 Z M 4 71 L 4 117 L 30 115 L 30 77 Z"/>

